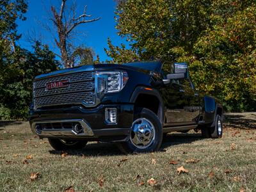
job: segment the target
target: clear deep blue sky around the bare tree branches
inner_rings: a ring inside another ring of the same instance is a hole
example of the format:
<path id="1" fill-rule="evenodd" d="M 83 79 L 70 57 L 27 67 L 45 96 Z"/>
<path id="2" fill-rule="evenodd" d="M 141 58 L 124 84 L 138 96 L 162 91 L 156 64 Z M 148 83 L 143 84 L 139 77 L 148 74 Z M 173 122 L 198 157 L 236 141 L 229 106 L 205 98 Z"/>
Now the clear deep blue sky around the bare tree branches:
<path id="1" fill-rule="evenodd" d="M 68 0 L 72 3 L 73 0 Z M 104 51 L 104 47 L 108 47 L 107 38 L 111 38 L 114 45 L 121 43 L 127 44 L 124 38 L 117 35 L 115 29 L 115 7 L 116 3 L 113 0 L 77 0 L 77 15 L 83 13 L 84 5 L 87 5 L 87 14 L 93 17 L 101 17 L 100 20 L 82 24 L 77 28 L 77 35 L 74 38 L 74 44 L 86 45 L 92 47 L 95 54 L 100 56 L 101 61 L 108 59 Z M 54 45 L 54 40 L 51 33 L 44 29 L 45 24 L 51 24 L 49 14 L 51 13 L 51 4 L 56 8 L 60 8 L 61 0 L 29 0 L 28 12 L 26 13 L 27 20 L 18 21 L 18 31 L 22 34 L 19 44 L 25 49 L 31 49 L 29 36 L 36 37 L 42 40 L 44 44 L 48 44 L 50 49 L 56 53 L 58 48 Z M 90 19 L 90 18 L 88 18 Z M 51 26 L 51 25 L 50 25 Z"/>

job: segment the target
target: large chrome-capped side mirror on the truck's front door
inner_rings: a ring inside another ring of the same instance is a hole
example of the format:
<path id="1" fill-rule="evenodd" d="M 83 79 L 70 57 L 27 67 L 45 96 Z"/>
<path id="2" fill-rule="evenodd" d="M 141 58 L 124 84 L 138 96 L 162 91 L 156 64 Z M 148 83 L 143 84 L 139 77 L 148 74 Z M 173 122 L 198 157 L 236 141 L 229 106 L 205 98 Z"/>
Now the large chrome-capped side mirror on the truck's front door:
<path id="1" fill-rule="evenodd" d="M 166 75 L 163 80 L 164 84 L 170 83 L 170 79 L 183 79 L 188 78 L 188 65 L 187 63 L 174 63 L 174 73 Z"/>

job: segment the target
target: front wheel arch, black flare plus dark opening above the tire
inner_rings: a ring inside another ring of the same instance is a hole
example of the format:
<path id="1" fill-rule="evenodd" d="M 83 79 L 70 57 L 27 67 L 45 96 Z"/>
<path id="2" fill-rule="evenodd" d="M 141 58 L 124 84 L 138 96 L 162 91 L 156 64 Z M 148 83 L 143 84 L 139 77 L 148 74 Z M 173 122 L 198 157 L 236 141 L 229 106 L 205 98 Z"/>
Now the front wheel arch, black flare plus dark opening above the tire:
<path id="1" fill-rule="evenodd" d="M 153 111 L 163 125 L 164 102 L 160 93 L 156 89 L 146 86 L 138 86 L 132 93 L 130 102 L 134 103 L 134 108 L 144 107 Z"/>

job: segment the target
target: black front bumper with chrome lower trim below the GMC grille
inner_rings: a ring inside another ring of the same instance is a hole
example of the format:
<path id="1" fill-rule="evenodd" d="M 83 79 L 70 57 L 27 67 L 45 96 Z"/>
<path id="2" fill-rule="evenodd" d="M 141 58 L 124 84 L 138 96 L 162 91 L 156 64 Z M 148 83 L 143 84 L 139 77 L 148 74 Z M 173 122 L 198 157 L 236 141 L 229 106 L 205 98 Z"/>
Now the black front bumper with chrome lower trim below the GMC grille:
<path id="1" fill-rule="evenodd" d="M 105 120 L 105 109 L 116 108 L 116 124 Z M 130 135 L 133 104 L 102 104 L 97 108 L 82 106 L 31 111 L 31 130 L 40 138 L 68 138 L 123 141 Z M 80 127 L 79 131 L 75 129 Z M 80 126 L 81 125 L 81 126 Z"/>

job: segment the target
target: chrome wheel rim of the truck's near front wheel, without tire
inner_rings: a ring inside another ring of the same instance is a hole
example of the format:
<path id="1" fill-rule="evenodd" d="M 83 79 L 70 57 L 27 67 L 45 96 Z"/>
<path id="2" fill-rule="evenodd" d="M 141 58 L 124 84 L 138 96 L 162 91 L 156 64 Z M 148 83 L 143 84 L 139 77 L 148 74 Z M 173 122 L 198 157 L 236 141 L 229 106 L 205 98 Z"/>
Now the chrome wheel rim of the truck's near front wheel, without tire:
<path id="1" fill-rule="evenodd" d="M 156 129 L 147 118 L 138 118 L 132 124 L 131 143 L 137 148 L 147 148 L 156 138 Z"/>

